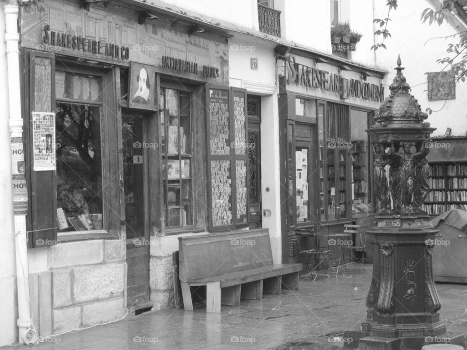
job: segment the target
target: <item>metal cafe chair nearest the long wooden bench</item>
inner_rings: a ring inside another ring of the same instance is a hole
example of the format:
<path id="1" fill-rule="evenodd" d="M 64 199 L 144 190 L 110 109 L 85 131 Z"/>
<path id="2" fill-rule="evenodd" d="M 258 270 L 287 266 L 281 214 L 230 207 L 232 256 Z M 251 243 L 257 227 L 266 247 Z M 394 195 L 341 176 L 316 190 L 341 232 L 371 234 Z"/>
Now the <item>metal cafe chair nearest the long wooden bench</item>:
<path id="1" fill-rule="evenodd" d="M 329 273 L 327 272 L 327 266 L 329 266 L 329 256 L 331 251 L 330 250 L 320 250 L 318 237 L 321 235 L 316 235 L 314 233 L 313 228 L 296 228 L 295 235 L 297 236 L 297 245 L 298 245 L 298 252 L 302 256 L 303 261 L 305 262 L 305 266 L 307 269 L 307 274 L 304 278 L 313 277 L 314 272 L 314 279 L 316 280 L 318 277 L 318 272 L 321 268 L 325 270 L 327 278 L 329 278 Z M 314 243 L 314 248 L 311 249 L 303 249 L 302 245 L 300 244 L 300 237 L 307 237 L 312 238 Z M 318 263 L 313 267 L 314 263 L 318 261 Z M 327 264 L 326 264 L 327 262 Z"/>

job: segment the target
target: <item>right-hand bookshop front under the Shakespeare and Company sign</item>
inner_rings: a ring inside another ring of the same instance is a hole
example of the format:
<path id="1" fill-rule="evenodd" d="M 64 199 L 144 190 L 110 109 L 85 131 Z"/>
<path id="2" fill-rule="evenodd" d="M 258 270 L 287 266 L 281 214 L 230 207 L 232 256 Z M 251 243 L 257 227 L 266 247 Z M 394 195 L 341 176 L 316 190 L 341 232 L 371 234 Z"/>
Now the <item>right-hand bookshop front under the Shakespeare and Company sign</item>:
<path id="1" fill-rule="evenodd" d="M 297 228 L 342 233 L 371 210 L 364 130 L 384 100 L 384 72 L 320 61 L 293 50 L 278 61 L 283 261 L 297 256 Z"/>

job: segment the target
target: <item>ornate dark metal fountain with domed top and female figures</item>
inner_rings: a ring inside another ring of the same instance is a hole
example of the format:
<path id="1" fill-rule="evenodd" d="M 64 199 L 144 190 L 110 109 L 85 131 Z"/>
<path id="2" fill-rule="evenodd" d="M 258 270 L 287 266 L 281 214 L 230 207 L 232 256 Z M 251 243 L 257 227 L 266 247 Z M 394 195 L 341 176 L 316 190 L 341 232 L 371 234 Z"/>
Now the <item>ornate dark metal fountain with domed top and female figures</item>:
<path id="1" fill-rule="evenodd" d="M 347 335 L 354 341 L 346 347 L 359 350 L 418 350 L 434 342 L 464 346 L 464 337 L 447 335 L 439 321 L 431 262 L 431 242 L 438 231 L 422 211 L 430 190 L 427 140 L 435 129 L 424 122 L 428 116 L 409 93 L 403 69 L 399 56 L 391 93 L 375 125 L 366 130 L 375 152 L 374 191 L 380 210 L 376 226 L 368 230 L 375 244 L 367 320 L 360 331 Z"/>

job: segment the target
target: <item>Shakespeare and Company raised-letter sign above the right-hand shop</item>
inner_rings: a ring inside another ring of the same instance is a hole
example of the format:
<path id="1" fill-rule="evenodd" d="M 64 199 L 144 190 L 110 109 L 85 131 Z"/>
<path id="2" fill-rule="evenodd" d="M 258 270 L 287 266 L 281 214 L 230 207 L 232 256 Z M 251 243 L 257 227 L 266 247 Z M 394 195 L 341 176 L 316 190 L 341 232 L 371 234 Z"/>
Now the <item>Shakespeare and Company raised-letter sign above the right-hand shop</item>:
<path id="1" fill-rule="evenodd" d="M 362 100 L 384 101 L 384 87 L 382 84 L 370 84 L 357 79 L 345 79 L 339 74 L 326 70 L 308 67 L 295 62 L 291 56 L 286 60 L 287 84 L 301 85 L 305 88 L 319 88 L 342 95 L 357 97 Z"/>

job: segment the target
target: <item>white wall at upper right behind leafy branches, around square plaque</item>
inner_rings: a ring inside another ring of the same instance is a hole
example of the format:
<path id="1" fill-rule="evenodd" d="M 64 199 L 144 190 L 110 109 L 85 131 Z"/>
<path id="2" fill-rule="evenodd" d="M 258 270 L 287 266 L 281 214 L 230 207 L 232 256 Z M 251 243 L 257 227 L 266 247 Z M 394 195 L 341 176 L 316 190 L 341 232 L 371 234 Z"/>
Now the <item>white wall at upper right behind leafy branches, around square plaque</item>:
<path id="1" fill-rule="evenodd" d="M 436 63 L 436 60 L 447 56 L 446 47 L 449 43 L 458 42 L 455 38 L 432 39 L 452 35 L 456 31 L 446 22 L 441 26 L 421 24 L 421 13 L 428 7 L 430 4 L 426 0 L 399 1 L 397 10 L 391 11 L 392 22 L 388 30 L 392 38 L 385 40 L 388 50 L 377 50 L 377 64 L 389 70 L 385 79 L 386 89 L 395 76 L 394 68 L 397 55 L 400 53 L 402 67 L 405 67 L 403 74 L 412 88 L 411 93 L 418 99 L 422 111 L 428 107 L 433 111 L 439 110 L 445 104 L 444 100 L 428 101 L 425 73 L 441 71 L 444 66 Z M 385 1 L 375 0 L 375 18 L 385 18 L 386 15 Z M 447 100 L 446 105 L 439 112 L 433 112 L 429 116 L 427 121 L 432 127 L 438 128 L 433 135 L 444 135 L 446 127 L 452 128 L 452 135 L 466 134 L 467 107 L 463 101 L 465 96 L 467 96 L 467 84 L 459 83 L 456 86 L 456 99 Z"/>

